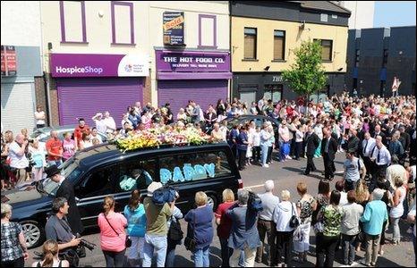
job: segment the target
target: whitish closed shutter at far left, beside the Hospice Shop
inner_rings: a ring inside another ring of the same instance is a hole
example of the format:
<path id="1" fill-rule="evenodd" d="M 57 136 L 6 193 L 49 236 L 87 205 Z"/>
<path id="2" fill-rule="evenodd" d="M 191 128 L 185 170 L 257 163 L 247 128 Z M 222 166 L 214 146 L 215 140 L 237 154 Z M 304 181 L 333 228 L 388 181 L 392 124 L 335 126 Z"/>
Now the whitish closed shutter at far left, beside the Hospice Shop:
<path id="1" fill-rule="evenodd" d="M 2 83 L 2 123 L 14 136 L 21 129 L 35 128 L 35 86 L 33 83 Z"/>

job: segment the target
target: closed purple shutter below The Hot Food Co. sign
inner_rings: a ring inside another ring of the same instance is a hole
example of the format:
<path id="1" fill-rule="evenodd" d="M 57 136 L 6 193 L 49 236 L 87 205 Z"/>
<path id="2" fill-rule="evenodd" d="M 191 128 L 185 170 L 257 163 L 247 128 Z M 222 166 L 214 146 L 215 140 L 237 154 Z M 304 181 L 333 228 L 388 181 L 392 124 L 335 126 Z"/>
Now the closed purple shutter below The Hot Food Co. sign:
<path id="1" fill-rule="evenodd" d="M 185 108 L 189 100 L 195 101 L 206 112 L 210 104 L 216 108 L 219 98 L 227 98 L 227 80 L 157 81 L 158 105 L 170 103 L 175 120 L 180 108 Z"/>

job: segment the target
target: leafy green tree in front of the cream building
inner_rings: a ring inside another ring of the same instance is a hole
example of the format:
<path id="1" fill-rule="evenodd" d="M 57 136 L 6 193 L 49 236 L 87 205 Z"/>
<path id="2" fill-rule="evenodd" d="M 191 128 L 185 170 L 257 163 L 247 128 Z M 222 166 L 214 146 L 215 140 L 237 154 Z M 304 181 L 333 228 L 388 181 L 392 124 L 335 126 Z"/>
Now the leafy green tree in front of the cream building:
<path id="1" fill-rule="evenodd" d="M 283 71 L 283 80 L 299 95 L 310 95 L 326 86 L 328 80 L 321 64 L 321 46 L 319 41 L 304 41 L 294 49 L 295 63 L 290 70 Z"/>

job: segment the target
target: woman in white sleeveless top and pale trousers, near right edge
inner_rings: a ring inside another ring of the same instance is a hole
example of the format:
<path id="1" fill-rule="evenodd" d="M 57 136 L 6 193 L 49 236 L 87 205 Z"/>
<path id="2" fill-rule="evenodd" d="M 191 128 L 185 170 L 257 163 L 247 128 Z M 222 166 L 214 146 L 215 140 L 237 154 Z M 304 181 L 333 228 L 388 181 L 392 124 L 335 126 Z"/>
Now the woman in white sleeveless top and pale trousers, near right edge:
<path id="1" fill-rule="evenodd" d="M 406 181 L 404 181 L 402 178 L 396 178 L 396 191 L 394 192 L 394 204 L 391 208 L 391 211 L 389 212 L 389 217 L 391 218 L 392 226 L 394 229 L 393 232 L 393 243 L 398 245 L 400 243 L 401 239 L 401 233 L 400 233 L 400 227 L 398 223 L 400 222 L 401 217 L 404 214 L 404 198 L 405 198 L 405 187 L 404 184 Z"/>

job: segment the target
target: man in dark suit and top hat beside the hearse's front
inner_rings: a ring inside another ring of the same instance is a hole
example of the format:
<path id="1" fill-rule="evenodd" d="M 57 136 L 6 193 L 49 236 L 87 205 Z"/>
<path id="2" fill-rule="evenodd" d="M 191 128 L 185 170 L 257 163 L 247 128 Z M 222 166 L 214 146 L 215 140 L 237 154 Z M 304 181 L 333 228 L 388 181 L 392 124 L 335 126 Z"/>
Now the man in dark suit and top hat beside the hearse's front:
<path id="1" fill-rule="evenodd" d="M 61 175 L 61 170 L 56 165 L 47 168 L 47 177 L 59 184 L 55 197 L 65 197 L 68 201 L 68 205 L 70 205 L 67 215 L 68 223 L 73 233 L 81 234 L 84 226 L 82 226 L 80 212 L 75 202 L 74 188 L 71 181 L 65 180 L 64 176 Z"/>

